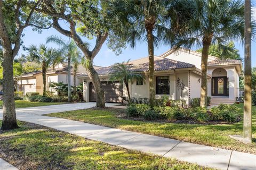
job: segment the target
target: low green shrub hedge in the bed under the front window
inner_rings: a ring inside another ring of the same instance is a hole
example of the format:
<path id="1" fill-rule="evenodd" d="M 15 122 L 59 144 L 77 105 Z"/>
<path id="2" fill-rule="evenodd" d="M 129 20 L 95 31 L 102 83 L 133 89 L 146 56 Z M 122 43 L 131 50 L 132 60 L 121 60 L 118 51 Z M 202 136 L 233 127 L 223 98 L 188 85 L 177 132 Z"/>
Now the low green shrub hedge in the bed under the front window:
<path id="1" fill-rule="evenodd" d="M 197 122 L 225 121 L 237 122 L 240 120 L 238 108 L 234 105 L 220 104 L 210 111 L 204 107 L 181 108 L 178 106 L 155 106 L 151 109 L 145 104 L 131 104 L 127 107 L 128 117 L 143 117 L 146 120 L 194 120 Z"/>

